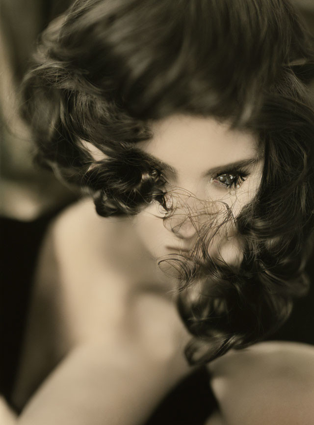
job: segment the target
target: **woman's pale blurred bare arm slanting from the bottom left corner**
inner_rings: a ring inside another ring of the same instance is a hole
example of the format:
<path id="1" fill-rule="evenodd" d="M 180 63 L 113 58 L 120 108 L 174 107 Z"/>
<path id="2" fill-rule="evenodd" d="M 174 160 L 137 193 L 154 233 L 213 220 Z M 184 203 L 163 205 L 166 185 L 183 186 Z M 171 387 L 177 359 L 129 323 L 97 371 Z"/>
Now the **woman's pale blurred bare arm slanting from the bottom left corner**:
<path id="1" fill-rule="evenodd" d="M 151 299 L 144 300 L 141 308 L 150 303 Z M 167 314 L 167 306 L 154 305 L 159 319 L 168 319 L 168 326 L 169 320 L 177 320 L 173 306 Z M 150 324 L 145 326 L 151 329 Z M 107 342 L 94 339 L 81 343 L 42 384 L 17 423 L 138 425 L 190 371 L 181 347 L 178 350 L 174 339 L 169 338 L 169 344 L 160 350 L 157 333 L 148 340 L 145 329 L 141 329 L 134 338 L 123 335 Z"/>

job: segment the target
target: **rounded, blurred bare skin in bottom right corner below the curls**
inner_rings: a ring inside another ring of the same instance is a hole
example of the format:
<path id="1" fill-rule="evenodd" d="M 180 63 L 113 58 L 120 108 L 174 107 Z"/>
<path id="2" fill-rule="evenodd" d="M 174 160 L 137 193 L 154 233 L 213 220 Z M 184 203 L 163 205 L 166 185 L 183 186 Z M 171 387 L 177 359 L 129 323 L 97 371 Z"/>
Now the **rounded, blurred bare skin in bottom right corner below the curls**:
<path id="1" fill-rule="evenodd" d="M 209 364 L 223 424 L 297 425 L 314 418 L 314 347 L 262 342 Z"/>

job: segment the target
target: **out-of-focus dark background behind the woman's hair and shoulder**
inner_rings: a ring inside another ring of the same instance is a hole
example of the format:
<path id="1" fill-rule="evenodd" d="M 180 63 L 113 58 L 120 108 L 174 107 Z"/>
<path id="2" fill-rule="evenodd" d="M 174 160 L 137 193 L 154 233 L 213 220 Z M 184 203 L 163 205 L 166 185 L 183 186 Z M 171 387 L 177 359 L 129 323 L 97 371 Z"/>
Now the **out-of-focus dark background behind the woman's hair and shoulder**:
<path id="1" fill-rule="evenodd" d="M 10 393 L 14 381 L 40 242 L 52 217 L 78 197 L 78 192 L 34 164 L 31 134 L 18 113 L 19 86 L 38 34 L 71 2 L 0 0 L 0 326 L 5 347 L 0 350 L 5 365 L 1 367 L 0 390 L 4 394 Z M 314 0 L 292 2 L 314 35 Z M 313 282 L 314 256 L 307 270 Z M 295 303 L 290 319 L 271 339 L 314 344 L 313 285 L 309 296 Z M 184 402 L 182 394 L 180 401 Z"/>

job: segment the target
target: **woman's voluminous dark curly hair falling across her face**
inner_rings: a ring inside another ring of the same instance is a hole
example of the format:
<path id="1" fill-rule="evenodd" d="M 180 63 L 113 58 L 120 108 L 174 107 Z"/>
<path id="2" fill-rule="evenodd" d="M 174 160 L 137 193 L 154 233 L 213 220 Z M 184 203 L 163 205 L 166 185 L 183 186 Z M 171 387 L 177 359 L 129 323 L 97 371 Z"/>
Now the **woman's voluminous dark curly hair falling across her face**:
<path id="1" fill-rule="evenodd" d="M 136 147 L 152 138 L 152 120 L 210 116 L 258 136 L 262 182 L 234 219 L 240 266 L 209 258 L 205 234 L 202 261 L 173 260 L 191 363 L 262 339 L 307 291 L 313 52 L 288 0 L 77 0 L 42 34 L 26 74 L 22 113 L 37 159 L 88 187 L 103 216 L 136 214 L 153 199 L 167 208 L 163 170 Z"/>

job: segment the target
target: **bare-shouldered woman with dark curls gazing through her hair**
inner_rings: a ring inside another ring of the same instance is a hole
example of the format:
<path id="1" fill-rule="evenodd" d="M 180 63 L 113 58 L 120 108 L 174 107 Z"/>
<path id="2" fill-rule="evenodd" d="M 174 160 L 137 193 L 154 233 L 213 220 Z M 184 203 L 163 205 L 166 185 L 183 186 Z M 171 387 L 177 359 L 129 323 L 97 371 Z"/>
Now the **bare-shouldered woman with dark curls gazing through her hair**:
<path id="1" fill-rule="evenodd" d="M 310 422 L 311 348 L 235 349 L 307 290 L 312 73 L 286 0 L 78 0 L 49 27 L 24 117 L 99 215 L 84 199 L 46 237 L 19 424 L 143 423 L 191 371 L 183 350 L 208 364 L 208 424 Z"/>

